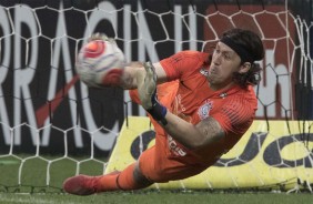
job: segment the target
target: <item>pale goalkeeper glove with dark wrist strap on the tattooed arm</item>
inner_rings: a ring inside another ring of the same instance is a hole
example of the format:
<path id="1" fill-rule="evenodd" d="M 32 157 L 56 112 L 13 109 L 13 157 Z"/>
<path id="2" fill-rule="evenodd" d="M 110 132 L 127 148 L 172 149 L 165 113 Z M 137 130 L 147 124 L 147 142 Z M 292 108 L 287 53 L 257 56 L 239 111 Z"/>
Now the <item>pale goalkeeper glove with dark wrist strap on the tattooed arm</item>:
<path id="1" fill-rule="evenodd" d="M 165 115 L 168 110 L 158 101 L 155 69 L 151 62 L 145 62 L 143 67 L 145 69 L 145 76 L 138 86 L 141 105 L 154 120 L 166 125 Z"/>

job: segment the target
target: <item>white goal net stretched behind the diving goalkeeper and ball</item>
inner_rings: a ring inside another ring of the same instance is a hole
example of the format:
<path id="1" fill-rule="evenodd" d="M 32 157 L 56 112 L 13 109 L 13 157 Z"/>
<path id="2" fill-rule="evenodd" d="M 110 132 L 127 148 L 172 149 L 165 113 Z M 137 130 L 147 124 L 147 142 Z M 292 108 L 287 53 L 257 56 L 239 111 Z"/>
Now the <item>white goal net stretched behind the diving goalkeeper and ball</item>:
<path id="1" fill-rule="evenodd" d="M 78 80 L 75 53 L 92 33 L 114 38 L 128 61 L 156 62 L 186 49 L 209 52 L 231 28 L 258 32 L 265 47 L 256 120 L 208 171 L 151 188 L 312 192 L 310 7 L 287 0 L 1 1 L 0 192 L 62 192 L 67 177 L 122 170 L 153 144 L 153 126 L 127 91 L 88 89 Z"/>

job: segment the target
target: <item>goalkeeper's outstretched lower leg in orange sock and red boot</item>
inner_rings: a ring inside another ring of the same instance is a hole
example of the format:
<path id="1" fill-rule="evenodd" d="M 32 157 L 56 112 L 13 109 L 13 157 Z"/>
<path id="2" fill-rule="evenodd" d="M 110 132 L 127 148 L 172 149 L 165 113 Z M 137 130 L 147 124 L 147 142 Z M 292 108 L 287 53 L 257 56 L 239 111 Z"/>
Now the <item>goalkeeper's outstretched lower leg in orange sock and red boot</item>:
<path id="1" fill-rule="evenodd" d="M 133 163 L 122 172 L 112 172 L 100 176 L 77 175 L 70 177 L 63 183 L 63 190 L 70 194 L 91 195 L 108 191 L 139 190 L 151 184 L 152 182 L 141 174 L 138 163 Z"/>

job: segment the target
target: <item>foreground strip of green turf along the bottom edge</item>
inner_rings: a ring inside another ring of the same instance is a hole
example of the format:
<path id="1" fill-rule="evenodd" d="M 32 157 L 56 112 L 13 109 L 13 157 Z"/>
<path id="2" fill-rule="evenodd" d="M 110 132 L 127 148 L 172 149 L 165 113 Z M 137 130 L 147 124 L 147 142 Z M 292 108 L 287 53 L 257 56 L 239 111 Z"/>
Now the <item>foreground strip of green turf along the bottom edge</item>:
<path id="1" fill-rule="evenodd" d="M 111 203 L 111 204 L 309 204 L 312 203 L 311 194 L 274 194 L 274 193 L 209 193 L 209 192 L 145 192 L 145 193 L 103 193 L 91 196 L 73 196 L 67 194 L 0 194 L 0 203 L 29 203 L 29 204 L 83 204 L 83 203 Z"/>

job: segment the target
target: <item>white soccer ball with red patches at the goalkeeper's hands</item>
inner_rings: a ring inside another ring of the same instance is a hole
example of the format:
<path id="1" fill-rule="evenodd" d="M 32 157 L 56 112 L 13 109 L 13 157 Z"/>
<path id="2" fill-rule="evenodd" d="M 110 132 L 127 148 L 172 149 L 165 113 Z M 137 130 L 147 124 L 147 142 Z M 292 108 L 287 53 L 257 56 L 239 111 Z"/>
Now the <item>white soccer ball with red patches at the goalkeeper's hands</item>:
<path id="1" fill-rule="evenodd" d="M 112 39 L 89 41 L 80 49 L 75 61 L 80 80 L 91 88 L 118 85 L 124 65 L 124 54 Z"/>

